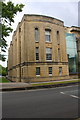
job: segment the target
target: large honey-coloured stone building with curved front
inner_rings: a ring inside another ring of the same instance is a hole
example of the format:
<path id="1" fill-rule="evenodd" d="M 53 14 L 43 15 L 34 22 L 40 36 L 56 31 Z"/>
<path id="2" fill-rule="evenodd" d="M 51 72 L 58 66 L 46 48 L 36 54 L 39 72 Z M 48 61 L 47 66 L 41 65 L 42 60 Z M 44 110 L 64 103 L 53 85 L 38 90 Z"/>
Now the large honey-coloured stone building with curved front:
<path id="1" fill-rule="evenodd" d="M 25 14 L 13 34 L 8 78 L 17 82 L 68 79 L 64 22 Z"/>

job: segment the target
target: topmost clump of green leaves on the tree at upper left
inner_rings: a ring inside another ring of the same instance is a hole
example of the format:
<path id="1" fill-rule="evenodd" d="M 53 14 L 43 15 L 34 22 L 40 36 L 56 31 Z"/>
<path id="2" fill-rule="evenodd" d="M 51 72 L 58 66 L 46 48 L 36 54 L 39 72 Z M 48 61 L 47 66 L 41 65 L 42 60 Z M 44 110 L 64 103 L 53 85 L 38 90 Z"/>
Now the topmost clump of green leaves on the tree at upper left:
<path id="1" fill-rule="evenodd" d="M 2 2 L 2 18 L 4 21 L 11 25 L 11 22 L 14 22 L 14 17 L 17 12 L 22 12 L 23 4 L 14 5 L 11 1 L 4 3 Z"/>

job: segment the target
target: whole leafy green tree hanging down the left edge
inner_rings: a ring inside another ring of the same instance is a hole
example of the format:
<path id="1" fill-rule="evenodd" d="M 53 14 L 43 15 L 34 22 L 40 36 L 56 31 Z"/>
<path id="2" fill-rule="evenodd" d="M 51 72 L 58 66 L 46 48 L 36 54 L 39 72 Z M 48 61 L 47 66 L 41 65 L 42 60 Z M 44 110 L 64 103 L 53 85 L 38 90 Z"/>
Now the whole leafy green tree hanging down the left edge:
<path id="1" fill-rule="evenodd" d="M 6 52 L 6 37 L 13 31 L 11 25 L 14 23 L 15 15 L 22 12 L 23 4 L 14 5 L 13 2 L 0 2 L 0 48 L 2 52 Z M 5 55 L 0 53 L 0 60 L 5 61 Z"/>

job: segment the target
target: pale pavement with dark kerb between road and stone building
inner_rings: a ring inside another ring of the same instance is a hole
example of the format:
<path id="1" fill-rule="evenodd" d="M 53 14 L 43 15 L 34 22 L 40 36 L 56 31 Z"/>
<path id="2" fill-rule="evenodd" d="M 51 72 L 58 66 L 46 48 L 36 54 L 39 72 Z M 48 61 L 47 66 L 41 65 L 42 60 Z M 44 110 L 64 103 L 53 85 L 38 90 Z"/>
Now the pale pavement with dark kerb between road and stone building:
<path id="1" fill-rule="evenodd" d="M 69 79 L 69 80 L 56 80 L 57 82 L 60 81 L 74 81 L 77 79 Z M 49 82 L 34 82 L 34 83 L 22 83 L 22 82 L 10 82 L 10 83 L 0 83 L 0 91 L 10 91 L 10 90 L 25 90 L 25 89 L 36 89 L 36 88 L 48 88 L 48 87 L 58 87 L 58 86 L 64 86 L 64 85 L 70 85 L 70 84 L 76 84 L 78 82 L 72 82 L 68 84 L 56 84 L 56 85 L 36 85 L 33 86 L 33 84 L 39 84 L 39 83 L 54 83 L 54 81 Z"/>

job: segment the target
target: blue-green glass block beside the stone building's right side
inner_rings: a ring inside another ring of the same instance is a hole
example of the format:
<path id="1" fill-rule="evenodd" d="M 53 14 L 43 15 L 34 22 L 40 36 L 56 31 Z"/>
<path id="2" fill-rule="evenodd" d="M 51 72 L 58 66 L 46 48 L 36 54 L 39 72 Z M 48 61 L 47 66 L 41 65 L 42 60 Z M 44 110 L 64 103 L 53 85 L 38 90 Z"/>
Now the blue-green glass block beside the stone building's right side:
<path id="1" fill-rule="evenodd" d="M 69 73 L 77 74 L 78 55 L 76 36 L 74 33 L 66 33 L 66 48 L 68 55 Z"/>

